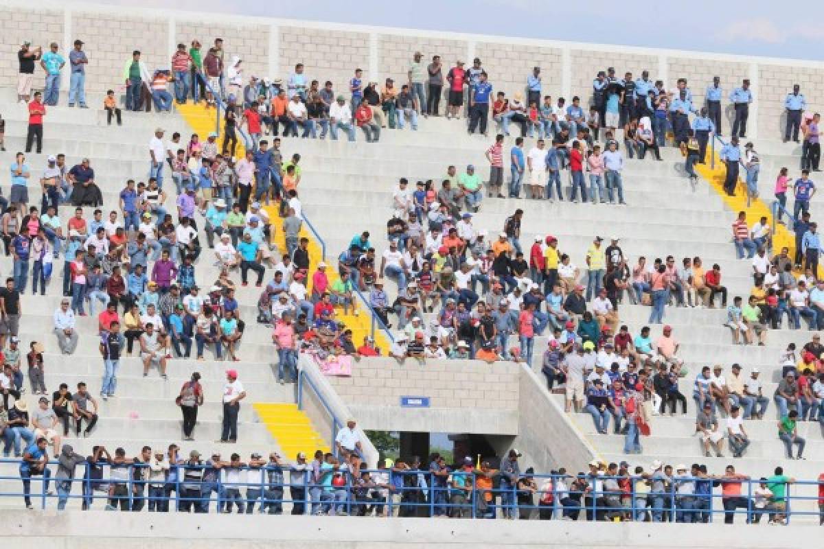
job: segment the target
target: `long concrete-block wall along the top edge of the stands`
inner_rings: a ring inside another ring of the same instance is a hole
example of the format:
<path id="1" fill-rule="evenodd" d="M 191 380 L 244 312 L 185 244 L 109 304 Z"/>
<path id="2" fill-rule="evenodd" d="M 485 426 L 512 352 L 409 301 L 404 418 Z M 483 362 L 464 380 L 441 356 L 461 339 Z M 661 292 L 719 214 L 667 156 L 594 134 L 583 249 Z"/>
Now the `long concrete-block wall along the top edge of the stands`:
<path id="1" fill-rule="evenodd" d="M 81 2 L 44 0 L 33 7 L 22 0 L 0 0 L 0 16 L 7 22 L 0 38 L 0 86 L 12 86 L 16 77 L 15 52 L 22 40 L 35 44 L 56 41 L 62 49 L 75 38 L 87 42 L 90 58 L 87 90 L 105 91 L 119 85 L 120 72 L 133 49 L 141 49 L 150 67 L 168 67 L 177 42 L 199 39 L 208 48 L 214 38 L 224 40 L 227 56 L 245 58 L 246 74 L 288 77 L 295 63 L 306 65 L 307 76 L 331 80 L 345 91 L 356 67 L 367 80 L 394 77 L 406 80 L 408 63 L 415 50 L 424 60 L 442 56 L 446 67 L 460 58 L 471 63 L 480 57 L 493 85 L 512 95 L 523 91 L 531 67 L 539 65 L 544 75 L 544 93 L 580 95 L 583 102 L 592 94 L 592 79 L 599 70 L 615 67 L 638 77 L 647 69 L 650 77 L 674 87 L 686 77 L 697 100 L 713 76 L 722 78 L 723 104 L 734 86 L 750 78 L 755 103 L 747 134 L 779 137 L 784 95 L 794 83 L 802 86 L 811 108 L 824 103 L 824 63 L 779 58 L 756 58 L 705 54 L 668 49 L 644 49 L 555 40 L 527 40 L 489 35 L 469 35 L 430 30 L 410 30 L 291 21 L 268 17 L 234 16 L 204 12 L 176 12 L 131 7 L 128 15 L 120 7 Z M 38 72 L 38 77 L 41 73 Z M 63 78 L 68 86 L 68 78 Z M 348 94 L 347 94 L 348 95 Z M 728 128 L 724 128 L 728 130 Z"/>

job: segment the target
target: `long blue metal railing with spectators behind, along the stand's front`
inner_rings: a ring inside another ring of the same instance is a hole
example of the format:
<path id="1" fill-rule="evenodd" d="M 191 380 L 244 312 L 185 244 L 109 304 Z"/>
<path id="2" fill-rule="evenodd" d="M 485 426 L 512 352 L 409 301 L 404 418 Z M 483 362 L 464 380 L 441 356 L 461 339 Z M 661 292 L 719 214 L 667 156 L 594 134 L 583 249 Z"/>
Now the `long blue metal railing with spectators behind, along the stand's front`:
<path id="1" fill-rule="evenodd" d="M 0 462 L 21 463 L 19 459 Z M 56 462 L 49 462 L 50 467 L 55 465 Z M 150 478 L 152 471 L 147 464 L 114 468 L 109 463 L 99 465 L 110 467 L 108 477 L 95 477 L 89 463 L 82 477 L 54 479 L 50 473 L 0 476 L 0 481 L 22 481 L 24 486 L 22 491 L 0 491 L 0 497 L 34 497 L 40 509 L 55 501 L 58 509 L 63 509 L 69 500 L 80 499 L 83 509 L 90 509 L 96 500 L 105 500 L 109 510 L 160 512 L 208 513 L 214 509 L 231 513 L 236 509 L 238 513 L 251 514 L 259 506 L 260 513 L 269 514 L 288 510 L 291 514 L 680 523 L 710 523 L 722 514 L 728 523 L 734 522 L 737 514 L 744 515 L 747 523 L 759 523 L 761 516 L 767 514 L 770 522 L 776 523 L 789 524 L 791 518 L 812 517 L 824 521 L 824 497 L 798 493 L 803 487 L 816 487 L 820 494 L 824 482 L 819 481 L 535 474 L 526 477 L 529 482 L 513 484 L 495 471 L 459 469 L 448 477 L 438 477 L 429 471 L 363 469 L 356 476 L 344 469 L 346 465 L 340 469 L 325 465 L 320 479 L 313 481 L 311 467 L 307 465 L 296 469 L 274 463 L 262 467 L 221 463 L 219 468 L 209 463 L 177 463 L 166 465 L 168 477 Z M 241 482 L 244 474 L 246 482 Z M 56 483 L 57 494 L 49 491 L 50 482 Z M 654 491 L 652 488 L 657 485 L 653 484 L 639 489 L 646 482 L 662 482 L 658 486 L 665 488 Z M 39 489 L 28 494 L 30 485 L 38 483 Z M 714 490 L 723 485 L 728 485 L 727 490 Z M 699 493 L 695 493 L 695 486 L 702 486 Z M 765 497 L 765 487 L 775 491 L 775 495 Z M 781 490 L 784 496 L 780 495 Z"/>

